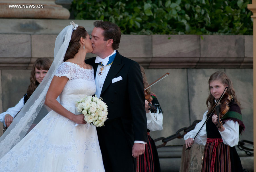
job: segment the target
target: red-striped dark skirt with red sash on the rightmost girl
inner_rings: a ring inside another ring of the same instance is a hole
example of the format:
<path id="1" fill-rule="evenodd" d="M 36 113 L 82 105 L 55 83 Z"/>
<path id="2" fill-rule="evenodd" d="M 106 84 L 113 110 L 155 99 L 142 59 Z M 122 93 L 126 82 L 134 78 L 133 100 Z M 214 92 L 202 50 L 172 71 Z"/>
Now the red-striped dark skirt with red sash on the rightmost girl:
<path id="1" fill-rule="evenodd" d="M 241 172 L 242 165 L 235 147 L 222 139 L 208 139 L 205 145 L 201 172 Z"/>

